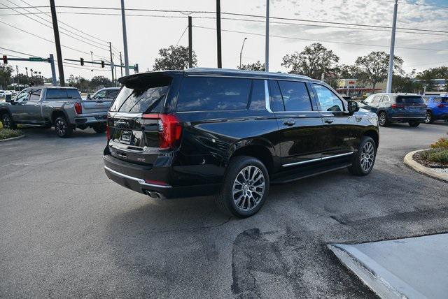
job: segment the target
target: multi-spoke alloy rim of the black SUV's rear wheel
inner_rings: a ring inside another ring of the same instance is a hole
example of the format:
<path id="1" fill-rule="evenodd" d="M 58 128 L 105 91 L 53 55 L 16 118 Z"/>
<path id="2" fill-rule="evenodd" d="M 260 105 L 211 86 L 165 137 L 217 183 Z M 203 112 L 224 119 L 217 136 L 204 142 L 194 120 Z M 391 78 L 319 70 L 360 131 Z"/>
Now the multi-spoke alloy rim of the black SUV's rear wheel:
<path id="1" fill-rule="evenodd" d="M 240 210 L 253 210 L 265 194 L 265 175 L 256 166 L 243 168 L 235 177 L 232 199 Z"/>

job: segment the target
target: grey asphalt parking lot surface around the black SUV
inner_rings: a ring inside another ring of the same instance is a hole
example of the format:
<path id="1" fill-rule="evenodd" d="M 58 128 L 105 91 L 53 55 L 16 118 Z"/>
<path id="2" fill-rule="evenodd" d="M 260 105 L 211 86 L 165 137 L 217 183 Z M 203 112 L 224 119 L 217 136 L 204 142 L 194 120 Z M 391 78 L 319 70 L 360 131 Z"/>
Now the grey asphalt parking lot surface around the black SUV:
<path id="1" fill-rule="evenodd" d="M 380 129 L 374 170 L 274 186 L 249 219 L 107 179 L 104 134 L 0 143 L 0 297 L 368 298 L 328 243 L 448 231 L 448 186 L 402 163 L 448 124 Z"/>

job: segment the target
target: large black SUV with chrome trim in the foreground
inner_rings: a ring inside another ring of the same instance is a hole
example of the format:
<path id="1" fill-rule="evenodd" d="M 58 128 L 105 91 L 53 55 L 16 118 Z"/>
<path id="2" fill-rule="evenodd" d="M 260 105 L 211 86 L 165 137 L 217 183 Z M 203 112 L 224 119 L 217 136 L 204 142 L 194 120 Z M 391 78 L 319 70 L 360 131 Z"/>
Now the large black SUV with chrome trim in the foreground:
<path id="1" fill-rule="evenodd" d="M 349 168 L 367 175 L 377 115 L 301 75 L 192 68 L 120 78 L 108 115 L 106 175 L 152 198 L 216 194 L 255 214 L 269 184 Z"/>

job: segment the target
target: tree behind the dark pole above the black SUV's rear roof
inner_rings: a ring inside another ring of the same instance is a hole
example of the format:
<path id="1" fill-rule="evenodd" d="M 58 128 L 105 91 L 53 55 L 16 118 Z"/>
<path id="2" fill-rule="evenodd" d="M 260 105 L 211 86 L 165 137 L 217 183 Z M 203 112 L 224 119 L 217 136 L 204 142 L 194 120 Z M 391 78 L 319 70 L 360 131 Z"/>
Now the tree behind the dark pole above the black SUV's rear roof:
<path id="1" fill-rule="evenodd" d="M 170 45 L 169 48 L 159 50 L 160 57 L 155 59 L 154 71 L 183 70 L 188 68 L 188 47 Z M 192 52 L 193 67 L 197 65 L 195 51 Z"/>

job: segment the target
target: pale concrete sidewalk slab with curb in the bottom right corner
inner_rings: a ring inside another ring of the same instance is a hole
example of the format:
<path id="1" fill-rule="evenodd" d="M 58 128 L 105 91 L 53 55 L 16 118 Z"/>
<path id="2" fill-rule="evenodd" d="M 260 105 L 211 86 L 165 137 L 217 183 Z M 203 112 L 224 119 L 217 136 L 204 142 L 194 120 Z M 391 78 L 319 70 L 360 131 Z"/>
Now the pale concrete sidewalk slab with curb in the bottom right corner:
<path id="1" fill-rule="evenodd" d="M 328 247 L 381 298 L 448 296 L 448 233 Z"/>

